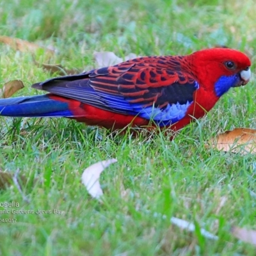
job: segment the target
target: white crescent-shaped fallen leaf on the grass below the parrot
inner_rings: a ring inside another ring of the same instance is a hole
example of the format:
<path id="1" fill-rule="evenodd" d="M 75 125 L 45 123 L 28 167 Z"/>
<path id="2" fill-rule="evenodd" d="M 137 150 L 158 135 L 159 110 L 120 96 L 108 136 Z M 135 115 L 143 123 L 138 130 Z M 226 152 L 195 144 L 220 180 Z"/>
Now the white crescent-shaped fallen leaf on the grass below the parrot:
<path id="1" fill-rule="evenodd" d="M 82 182 L 88 193 L 93 197 L 99 199 L 103 195 L 102 189 L 100 188 L 100 173 L 109 166 L 109 164 L 116 163 L 116 159 L 108 159 L 92 164 L 86 168 L 82 175 Z"/>

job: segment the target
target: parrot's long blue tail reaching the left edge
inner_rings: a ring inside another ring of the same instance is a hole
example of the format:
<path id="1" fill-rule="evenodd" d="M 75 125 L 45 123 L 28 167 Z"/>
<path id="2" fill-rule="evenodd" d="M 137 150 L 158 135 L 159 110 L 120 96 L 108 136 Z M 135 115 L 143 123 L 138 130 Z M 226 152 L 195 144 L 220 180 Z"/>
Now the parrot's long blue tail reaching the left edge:
<path id="1" fill-rule="evenodd" d="M 52 98 L 52 99 L 51 99 Z M 74 117 L 68 99 L 57 100 L 51 94 L 0 99 L 0 116 L 17 117 Z"/>

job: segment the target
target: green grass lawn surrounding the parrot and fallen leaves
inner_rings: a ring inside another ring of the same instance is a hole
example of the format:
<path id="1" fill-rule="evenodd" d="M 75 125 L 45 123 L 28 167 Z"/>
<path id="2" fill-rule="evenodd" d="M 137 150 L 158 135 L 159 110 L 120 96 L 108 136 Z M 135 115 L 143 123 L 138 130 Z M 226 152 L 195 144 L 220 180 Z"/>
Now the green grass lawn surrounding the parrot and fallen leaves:
<path id="1" fill-rule="evenodd" d="M 1 1 L 0 35 L 52 45 L 58 53 L 49 63 L 80 70 L 95 67 L 93 51 L 189 54 L 225 44 L 255 60 L 255 12 L 253 1 L 238 0 Z M 26 86 L 17 95 L 35 95 L 30 84 L 52 76 L 35 66 L 30 52 L 4 44 L 0 52 L 1 85 L 21 79 Z M 30 201 L 11 186 L 0 192 L 0 203 L 64 211 L 1 214 L 17 222 L 0 223 L 0 255 L 255 255 L 252 245 L 230 235 L 232 225 L 256 229 L 255 156 L 205 148 L 218 132 L 255 127 L 254 102 L 252 79 L 173 141 L 164 133 L 114 136 L 72 120 L 0 118 L 0 168 L 20 169 Z M 102 173 L 100 203 L 86 192 L 81 174 L 112 157 L 118 163 Z M 180 230 L 172 216 L 197 223 L 218 241 Z"/>

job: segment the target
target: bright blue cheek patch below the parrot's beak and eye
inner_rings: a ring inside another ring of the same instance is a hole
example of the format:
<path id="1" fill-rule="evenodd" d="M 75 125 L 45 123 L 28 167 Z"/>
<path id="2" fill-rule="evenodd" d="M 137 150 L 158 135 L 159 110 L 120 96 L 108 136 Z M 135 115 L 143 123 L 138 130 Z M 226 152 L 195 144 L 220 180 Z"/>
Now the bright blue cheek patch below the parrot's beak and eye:
<path id="1" fill-rule="evenodd" d="M 221 76 L 220 79 L 214 84 L 214 89 L 216 95 L 221 97 L 224 93 L 226 93 L 231 87 L 236 86 L 239 82 L 239 76 Z"/>

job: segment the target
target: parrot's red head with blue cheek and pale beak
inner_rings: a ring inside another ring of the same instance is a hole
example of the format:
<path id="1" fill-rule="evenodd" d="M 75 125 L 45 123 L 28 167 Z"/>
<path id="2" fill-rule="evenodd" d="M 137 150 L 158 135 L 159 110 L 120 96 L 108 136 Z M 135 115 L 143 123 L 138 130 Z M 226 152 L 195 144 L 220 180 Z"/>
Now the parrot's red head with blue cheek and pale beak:
<path id="1" fill-rule="evenodd" d="M 251 61 L 243 52 L 228 48 L 212 48 L 189 55 L 195 76 L 205 90 L 216 91 L 220 97 L 230 87 L 248 83 Z"/>

